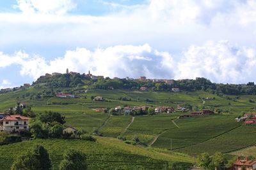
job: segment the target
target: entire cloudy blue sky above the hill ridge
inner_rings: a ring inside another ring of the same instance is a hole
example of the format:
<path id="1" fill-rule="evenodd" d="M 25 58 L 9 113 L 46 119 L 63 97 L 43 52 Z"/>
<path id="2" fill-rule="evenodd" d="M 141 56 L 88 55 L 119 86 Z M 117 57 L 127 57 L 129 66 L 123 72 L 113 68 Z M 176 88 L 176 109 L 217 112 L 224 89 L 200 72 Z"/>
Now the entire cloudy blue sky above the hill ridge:
<path id="1" fill-rule="evenodd" d="M 0 89 L 70 71 L 256 81 L 256 0 L 1 0 Z"/>

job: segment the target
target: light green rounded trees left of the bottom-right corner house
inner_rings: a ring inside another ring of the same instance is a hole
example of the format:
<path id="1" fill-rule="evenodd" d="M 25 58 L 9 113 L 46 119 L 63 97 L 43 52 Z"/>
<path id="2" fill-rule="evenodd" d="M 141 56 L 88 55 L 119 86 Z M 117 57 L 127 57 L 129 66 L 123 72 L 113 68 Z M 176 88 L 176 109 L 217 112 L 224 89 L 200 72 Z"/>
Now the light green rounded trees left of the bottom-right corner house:
<path id="1" fill-rule="evenodd" d="M 202 153 L 198 157 L 199 166 L 204 167 L 204 169 L 226 169 L 225 166 L 228 163 L 227 159 L 222 153 L 215 153 L 210 156 L 209 153 Z"/>

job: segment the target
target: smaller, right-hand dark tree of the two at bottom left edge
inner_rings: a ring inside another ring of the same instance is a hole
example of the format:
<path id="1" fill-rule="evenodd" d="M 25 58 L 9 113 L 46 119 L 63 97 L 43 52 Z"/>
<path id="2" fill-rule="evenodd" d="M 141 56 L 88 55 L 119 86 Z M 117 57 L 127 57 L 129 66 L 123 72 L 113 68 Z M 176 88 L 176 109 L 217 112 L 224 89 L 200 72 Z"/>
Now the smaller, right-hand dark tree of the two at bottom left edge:
<path id="1" fill-rule="evenodd" d="M 63 160 L 60 162 L 60 170 L 85 170 L 86 156 L 83 152 L 77 150 L 67 150 L 63 154 Z"/>

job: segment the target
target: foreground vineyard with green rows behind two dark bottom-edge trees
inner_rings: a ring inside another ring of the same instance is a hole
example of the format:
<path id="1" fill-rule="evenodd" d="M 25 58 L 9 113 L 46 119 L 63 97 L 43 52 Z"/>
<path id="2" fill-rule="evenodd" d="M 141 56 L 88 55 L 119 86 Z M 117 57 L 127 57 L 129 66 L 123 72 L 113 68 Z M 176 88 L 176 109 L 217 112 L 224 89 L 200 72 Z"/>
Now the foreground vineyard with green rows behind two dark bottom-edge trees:
<path id="1" fill-rule="evenodd" d="M 135 151 L 136 146 L 125 145 L 124 143 L 118 144 L 116 141 L 113 143 L 113 141 L 104 138 L 99 138 L 97 142 L 36 139 L 1 146 L 0 169 L 10 169 L 15 157 L 36 144 L 43 145 L 48 150 L 54 169 L 58 169 L 63 151 L 68 148 L 75 148 L 86 153 L 88 169 L 165 169 L 168 167 L 168 162 L 177 160 L 188 160 L 190 162 L 193 160 L 179 155 L 168 156 L 162 155 L 162 153 L 148 152 L 143 148 Z"/>

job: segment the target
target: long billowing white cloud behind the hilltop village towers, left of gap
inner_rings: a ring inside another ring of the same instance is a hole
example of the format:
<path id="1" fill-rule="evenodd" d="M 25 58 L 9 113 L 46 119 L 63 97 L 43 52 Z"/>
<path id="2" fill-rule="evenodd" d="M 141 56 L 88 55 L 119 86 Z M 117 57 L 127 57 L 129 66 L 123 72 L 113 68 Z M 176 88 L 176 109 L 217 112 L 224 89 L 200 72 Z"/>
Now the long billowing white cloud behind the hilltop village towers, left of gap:
<path id="1" fill-rule="evenodd" d="M 0 63 L 12 60 L 11 64 L 21 66 L 22 76 L 31 76 L 34 80 L 45 73 L 65 73 L 66 68 L 80 73 L 87 73 L 90 70 L 93 74 L 110 77 L 137 78 L 145 75 L 151 78 L 171 78 L 173 76 L 172 56 L 152 50 L 152 47 L 147 44 L 110 46 L 97 48 L 94 51 L 77 48 L 74 51 L 67 51 L 64 57 L 58 57 L 49 62 L 38 55 L 24 56 L 28 54 L 18 52 L 13 56 L 0 58 Z"/>

